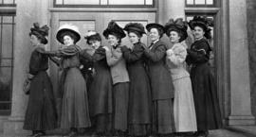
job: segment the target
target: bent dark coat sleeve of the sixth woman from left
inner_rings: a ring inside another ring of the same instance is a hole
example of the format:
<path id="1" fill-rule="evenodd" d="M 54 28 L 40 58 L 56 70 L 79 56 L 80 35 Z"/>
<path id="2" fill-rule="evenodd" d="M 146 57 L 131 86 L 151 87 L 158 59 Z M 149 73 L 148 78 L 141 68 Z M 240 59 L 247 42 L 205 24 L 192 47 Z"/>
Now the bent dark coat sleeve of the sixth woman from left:
<path id="1" fill-rule="evenodd" d="M 149 49 L 144 50 L 145 56 L 152 61 L 162 60 L 166 54 L 166 46 L 160 44 L 156 47 L 155 52 L 150 51 Z"/>

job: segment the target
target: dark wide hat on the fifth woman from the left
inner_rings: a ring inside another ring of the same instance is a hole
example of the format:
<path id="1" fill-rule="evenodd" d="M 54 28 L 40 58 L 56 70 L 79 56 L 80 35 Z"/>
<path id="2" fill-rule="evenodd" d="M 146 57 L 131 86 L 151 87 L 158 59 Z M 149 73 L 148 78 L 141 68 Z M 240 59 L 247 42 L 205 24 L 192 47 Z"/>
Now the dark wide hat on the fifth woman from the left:
<path id="1" fill-rule="evenodd" d="M 142 34 L 146 34 L 144 26 L 139 23 L 129 23 L 126 26 L 124 26 L 123 30 L 128 31 L 128 32 L 136 31 L 141 36 L 142 36 Z"/>

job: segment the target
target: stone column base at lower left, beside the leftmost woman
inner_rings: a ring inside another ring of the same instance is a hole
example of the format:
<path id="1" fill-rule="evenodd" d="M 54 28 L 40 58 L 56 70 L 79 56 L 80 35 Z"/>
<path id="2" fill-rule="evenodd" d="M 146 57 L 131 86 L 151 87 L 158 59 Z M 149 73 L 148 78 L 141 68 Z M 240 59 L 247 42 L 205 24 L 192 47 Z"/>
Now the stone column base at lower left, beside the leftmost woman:
<path id="1" fill-rule="evenodd" d="M 9 117 L 9 120 L 4 123 L 4 135 L 6 136 L 26 136 L 31 134 L 31 131 L 24 130 L 24 119 L 20 117 Z"/>

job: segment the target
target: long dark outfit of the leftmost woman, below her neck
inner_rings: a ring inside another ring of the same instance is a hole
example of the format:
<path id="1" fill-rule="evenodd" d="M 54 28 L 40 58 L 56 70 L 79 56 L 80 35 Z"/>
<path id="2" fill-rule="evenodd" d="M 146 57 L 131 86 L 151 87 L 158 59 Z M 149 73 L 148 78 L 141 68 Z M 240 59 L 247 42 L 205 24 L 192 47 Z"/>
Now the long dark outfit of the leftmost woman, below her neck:
<path id="1" fill-rule="evenodd" d="M 31 54 L 29 74 L 34 77 L 30 83 L 29 99 L 24 128 L 49 130 L 57 128 L 57 111 L 50 78 L 47 76 L 48 58 L 45 49 L 37 47 Z"/>

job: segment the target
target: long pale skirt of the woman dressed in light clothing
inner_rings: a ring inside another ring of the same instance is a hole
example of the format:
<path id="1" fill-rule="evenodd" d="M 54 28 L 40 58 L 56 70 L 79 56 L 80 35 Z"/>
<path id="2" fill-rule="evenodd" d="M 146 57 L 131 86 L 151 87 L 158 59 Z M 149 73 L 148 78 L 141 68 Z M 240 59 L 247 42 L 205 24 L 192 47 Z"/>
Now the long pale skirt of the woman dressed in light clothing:
<path id="1" fill-rule="evenodd" d="M 174 123 L 176 132 L 196 131 L 196 116 L 190 77 L 174 79 Z"/>

